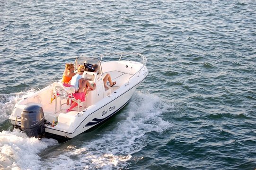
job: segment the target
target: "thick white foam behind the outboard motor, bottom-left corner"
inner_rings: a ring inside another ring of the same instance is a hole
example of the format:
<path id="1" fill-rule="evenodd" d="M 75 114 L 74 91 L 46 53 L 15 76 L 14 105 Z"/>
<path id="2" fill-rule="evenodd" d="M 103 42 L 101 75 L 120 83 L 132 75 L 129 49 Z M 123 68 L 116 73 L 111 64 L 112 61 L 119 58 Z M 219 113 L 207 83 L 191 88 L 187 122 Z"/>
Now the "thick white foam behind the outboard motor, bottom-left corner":
<path id="1" fill-rule="evenodd" d="M 49 145 L 58 144 L 53 139 L 28 138 L 19 130 L 0 132 L 0 169 L 38 170 L 40 157 L 37 155 Z"/>

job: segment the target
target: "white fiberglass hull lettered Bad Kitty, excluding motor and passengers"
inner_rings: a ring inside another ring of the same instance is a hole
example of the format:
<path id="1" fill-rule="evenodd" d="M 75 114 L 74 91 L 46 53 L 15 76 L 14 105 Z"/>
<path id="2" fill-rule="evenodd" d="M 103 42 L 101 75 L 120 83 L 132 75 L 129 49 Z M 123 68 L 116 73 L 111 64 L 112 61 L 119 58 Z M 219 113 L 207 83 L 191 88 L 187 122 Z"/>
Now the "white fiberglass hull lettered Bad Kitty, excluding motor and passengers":
<path id="1" fill-rule="evenodd" d="M 98 125 L 121 110 L 129 102 L 137 86 L 148 75 L 148 69 L 145 66 L 146 58 L 139 55 L 143 59 L 142 63 L 120 61 L 120 58 L 119 61 L 99 62 L 100 71 L 85 73 L 83 75 L 85 78 L 90 78 L 91 83 L 97 84 L 96 90 L 90 91 L 86 95 L 86 101 L 79 103 L 80 107 L 72 111 L 66 111 L 65 107 L 68 106 L 63 105 L 66 98 L 62 98 L 62 93 L 56 93 L 54 102 L 49 102 L 51 94 L 55 92 L 54 88 L 62 86 L 60 81 L 32 96 L 27 96 L 15 105 L 9 117 L 12 125 L 18 128 L 23 127 L 22 130 L 24 130 L 24 121 L 29 118 L 22 117 L 22 114 L 26 112 L 26 108 L 30 106 L 33 108 L 35 105 L 40 106 L 44 112 L 44 135 L 46 137 L 68 140 Z M 105 89 L 103 84 L 103 76 L 107 73 L 111 75 L 113 81 L 116 81 L 116 85 L 109 86 L 109 89 Z M 82 110 L 80 110 L 81 106 Z M 28 112 L 27 115 L 30 114 Z M 31 131 L 31 129 L 28 130 Z"/>

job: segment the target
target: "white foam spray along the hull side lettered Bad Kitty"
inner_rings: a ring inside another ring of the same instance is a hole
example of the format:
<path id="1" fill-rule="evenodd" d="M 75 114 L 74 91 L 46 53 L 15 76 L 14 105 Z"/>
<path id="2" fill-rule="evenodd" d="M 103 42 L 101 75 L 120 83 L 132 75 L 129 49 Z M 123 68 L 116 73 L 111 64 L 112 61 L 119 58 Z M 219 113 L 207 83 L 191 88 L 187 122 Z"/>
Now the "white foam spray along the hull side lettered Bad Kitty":
<path id="1" fill-rule="evenodd" d="M 141 151 L 150 142 L 147 133 L 162 133 L 172 128 L 172 123 L 161 118 L 165 107 L 169 106 L 154 95 L 135 93 L 122 113 L 116 115 L 121 120 L 114 129 L 83 141 L 81 146 L 67 146 L 59 156 L 45 160 L 44 166 L 52 165 L 53 170 L 125 169 L 132 153 Z"/>

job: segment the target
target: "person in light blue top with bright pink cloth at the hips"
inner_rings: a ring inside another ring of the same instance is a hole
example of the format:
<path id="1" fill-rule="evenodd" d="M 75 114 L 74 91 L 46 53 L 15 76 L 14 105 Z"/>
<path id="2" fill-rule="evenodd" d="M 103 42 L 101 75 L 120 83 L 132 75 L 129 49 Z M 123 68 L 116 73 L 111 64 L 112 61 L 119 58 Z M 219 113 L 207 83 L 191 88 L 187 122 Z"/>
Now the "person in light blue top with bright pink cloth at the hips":
<path id="1" fill-rule="evenodd" d="M 70 85 L 72 85 L 75 88 L 75 93 L 73 94 L 73 96 L 75 97 L 76 100 L 80 99 L 81 102 L 85 101 L 85 94 L 87 92 L 87 87 L 90 87 L 91 90 L 96 89 L 95 83 L 94 83 L 94 85 L 91 85 L 88 82 L 88 80 L 86 80 L 82 77 L 83 73 L 84 73 L 84 66 L 80 65 L 78 67 L 78 73 L 71 78 L 71 81 L 69 83 Z M 72 110 L 77 105 L 78 105 L 78 103 L 71 102 L 71 106 L 67 110 L 67 112 Z"/>

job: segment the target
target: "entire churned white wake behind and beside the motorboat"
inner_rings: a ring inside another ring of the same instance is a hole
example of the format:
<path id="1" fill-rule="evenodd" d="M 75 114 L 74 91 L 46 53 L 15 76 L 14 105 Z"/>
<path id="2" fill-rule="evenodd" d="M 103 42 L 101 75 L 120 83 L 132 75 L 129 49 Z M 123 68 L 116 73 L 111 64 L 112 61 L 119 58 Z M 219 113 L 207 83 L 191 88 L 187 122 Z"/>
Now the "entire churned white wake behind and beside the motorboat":
<path id="1" fill-rule="evenodd" d="M 8 119 L 18 101 L 18 97 L 10 98 L 1 103 L 1 109 L 10 107 L 4 110 L 7 115 L 1 121 Z M 161 118 L 167 109 L 171 109 L 169 104 L 161 102 L 159 97 L 135 92 L 128 105 L 110 120 L 115 123 L 106 122 L 62 144 L 54 139 L 28 138 L 18 130 L 4 130 L 0 132 L 0 169 L 127 168 L 131 161 L 143 159 L 136 153 L 152 142 L 150 133 L 163 133 L 173 127 Z"/>

